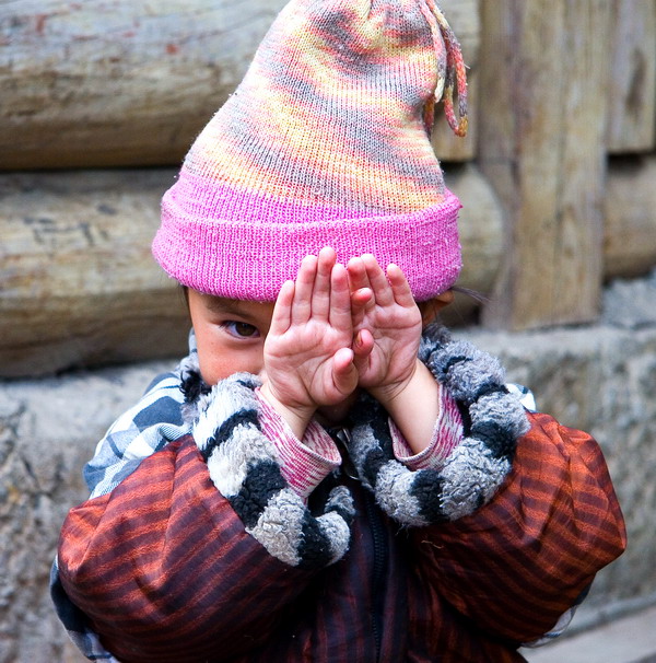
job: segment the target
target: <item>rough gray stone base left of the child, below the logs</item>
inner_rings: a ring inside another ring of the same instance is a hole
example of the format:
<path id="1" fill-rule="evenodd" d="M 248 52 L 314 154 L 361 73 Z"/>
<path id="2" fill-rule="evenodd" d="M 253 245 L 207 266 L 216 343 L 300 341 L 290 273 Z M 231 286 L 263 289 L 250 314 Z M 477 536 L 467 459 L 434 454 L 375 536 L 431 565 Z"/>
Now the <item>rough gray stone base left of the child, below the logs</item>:
<path id="1" fill-rule="evenodd" d="M 0 385 L 0 663 L 85 660 L 50 606 L 58 530 L 81 468 L 162 364 Z"/>

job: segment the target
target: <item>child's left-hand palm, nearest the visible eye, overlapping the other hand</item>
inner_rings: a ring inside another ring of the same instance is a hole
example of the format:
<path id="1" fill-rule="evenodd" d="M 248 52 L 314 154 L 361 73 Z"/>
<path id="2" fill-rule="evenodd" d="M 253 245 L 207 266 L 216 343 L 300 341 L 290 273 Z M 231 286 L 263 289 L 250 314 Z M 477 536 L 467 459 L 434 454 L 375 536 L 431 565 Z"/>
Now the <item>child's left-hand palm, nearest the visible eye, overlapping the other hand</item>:
<path id="1" fill-rule="evenodd" d="M 341 403 L 358 386 L 352 342 L 349 277 L 326 247 L 283 284 L 265 342 L 261 393 L 298 438 L 318 407 Z"/>

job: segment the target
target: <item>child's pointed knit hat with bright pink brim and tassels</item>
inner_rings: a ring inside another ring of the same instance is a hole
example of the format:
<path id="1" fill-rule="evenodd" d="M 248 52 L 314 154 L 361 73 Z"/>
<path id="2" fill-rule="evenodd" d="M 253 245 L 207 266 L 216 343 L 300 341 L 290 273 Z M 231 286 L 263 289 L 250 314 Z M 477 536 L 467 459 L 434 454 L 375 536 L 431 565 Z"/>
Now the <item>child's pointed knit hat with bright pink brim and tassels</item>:
<path id="1" fill-rule="evenodd" d="M 442 97 L 465 135 L 465 66 L 434 0 L 292 0 L 164 195 L 156 260 L 201 292 L 273 301 L 332 246 L 397 264 L 418 301 L 448 290 L 460 203 L 429 137 Z"/>

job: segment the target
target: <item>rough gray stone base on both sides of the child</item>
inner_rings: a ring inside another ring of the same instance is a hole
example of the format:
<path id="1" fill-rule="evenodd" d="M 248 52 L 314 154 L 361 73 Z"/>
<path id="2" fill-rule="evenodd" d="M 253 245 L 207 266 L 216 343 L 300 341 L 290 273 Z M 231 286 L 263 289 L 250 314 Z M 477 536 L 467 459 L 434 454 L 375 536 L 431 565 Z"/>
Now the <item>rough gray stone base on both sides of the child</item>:
<path id="1" fill-rule="evenodd" d="M 630 535 L 578 617 L 656 600 L 656 275 L 607 293 L 606 323 L 530 334 L 459 333 L 500 354 L 540 409 L 601 443 Z M 629 311 L 631 309 L 631 311 Z M 623 311 L 622 317 L 618 312 Z M 84 462 L 107 426 L 173 364 L 0 383 L 0 663 L 81 661 L 49 603 L 58 530 L 85 498 Z"/>

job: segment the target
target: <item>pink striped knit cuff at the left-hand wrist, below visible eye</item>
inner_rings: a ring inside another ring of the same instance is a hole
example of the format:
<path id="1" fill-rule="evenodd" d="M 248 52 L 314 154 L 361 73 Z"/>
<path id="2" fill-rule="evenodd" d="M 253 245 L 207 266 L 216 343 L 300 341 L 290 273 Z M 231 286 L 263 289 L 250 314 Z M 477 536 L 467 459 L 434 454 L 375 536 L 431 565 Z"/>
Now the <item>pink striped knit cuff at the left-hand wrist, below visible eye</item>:
<path id="1" fill-rule="evenodd" d="M 273 442 L 280 457 L 280 469 L 290 488 L 304 500 L 339 465 L 341 456 L 330 435 L 311 421 L 303 440 L 298 440 L 286 421 L 260 397 L 260 424 Z"/>

